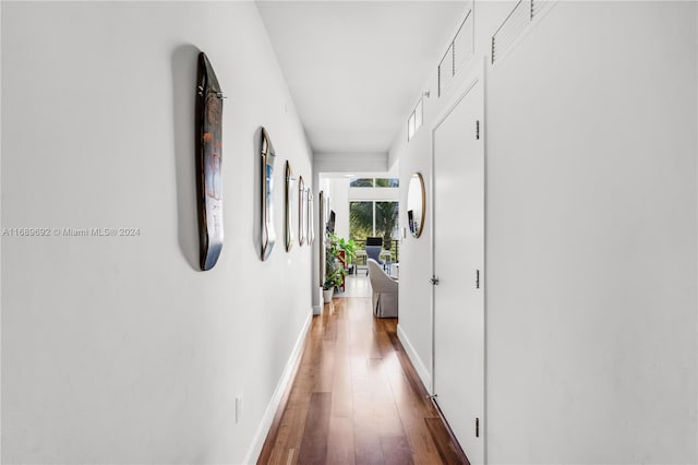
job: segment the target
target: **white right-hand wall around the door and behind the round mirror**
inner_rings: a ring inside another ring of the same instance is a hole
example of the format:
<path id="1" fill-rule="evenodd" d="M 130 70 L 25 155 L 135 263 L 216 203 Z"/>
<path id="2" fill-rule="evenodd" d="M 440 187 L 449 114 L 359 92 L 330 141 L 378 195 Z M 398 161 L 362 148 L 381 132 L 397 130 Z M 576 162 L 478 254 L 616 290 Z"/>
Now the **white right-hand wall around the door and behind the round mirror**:
<path id="1" fill-rule="evenodd" d="M 490 463 L 698 461 L 695 10 L 559 2 L 486 67 Z M 476 12 L 484 55 L 508 11 Z M 402 136 L 406 187 L 429 142 Z M 400 331 L 431 370 L 425 234 Z"/>

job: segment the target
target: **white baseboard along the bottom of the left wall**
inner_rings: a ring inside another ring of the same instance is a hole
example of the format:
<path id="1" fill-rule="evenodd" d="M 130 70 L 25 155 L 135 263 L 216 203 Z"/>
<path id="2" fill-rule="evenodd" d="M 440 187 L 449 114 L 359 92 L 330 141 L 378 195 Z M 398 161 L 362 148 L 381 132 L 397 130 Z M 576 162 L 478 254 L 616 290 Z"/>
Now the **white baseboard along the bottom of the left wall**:
<path id="1" fill-rule="evenodd" d="M 296 341 L 293 350 L 291 350 L 291 355 L 286 362 L 286 367 L 284 367 L 281 378 L 279 379 L 279 382 L 274 390 L 274 394 L 272 394 L 272 400 L 269 401 L 266 410 L 264 410 L 262 421 L 260 421 L 260 426 L 257 427 L 257 430 L 252 438 L 250 449 L 248 449 L 248 453 L 244 455 L 244 460 L 242 461 L 243 464 L 256 464 L 257 458 L 260 458 L 262 448 L 264 446 L 264 441 L 269 433 L 269 428 L 272 428 L 272 422 L 274 421 L 276 412 L 279 408 L 279 404 L 281 403 L 284 393 L 286 392 L 289 383 L 293 382 L 291 375 L 293 374 L 296 366 L 300 362 L 301 354 L 303 353 L 303 344 L 305 343 L 305 335 L 308 334 L 308 329 L 310 327 L 311 321 L 313 321 L 313 312 L 308 313 L 308 318 L 305 319 L 305 323 L 303 323 L 303 327 L 298 335 L 298 339 Z"/>

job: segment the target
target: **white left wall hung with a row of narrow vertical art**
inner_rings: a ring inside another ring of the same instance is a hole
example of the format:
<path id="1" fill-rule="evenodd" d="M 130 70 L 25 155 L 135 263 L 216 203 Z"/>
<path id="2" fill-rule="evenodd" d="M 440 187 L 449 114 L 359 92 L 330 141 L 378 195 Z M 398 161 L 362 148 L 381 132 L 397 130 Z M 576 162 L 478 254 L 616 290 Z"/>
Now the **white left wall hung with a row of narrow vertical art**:
<path id="1" fill-rule="evenodd" d="M 226 242 L 206 273 L 198 49 L 228 96 Z M 311 251 L 282 245 L 284 163 L 310 186 L 311 154 L 256 7 L 3 2 L 2 97 L 3 227 L 140 229 L 2 238 L 3 462 L 242 462 L 311 312 Z M 261 126 L 278 153 L 267 262 Z"/>

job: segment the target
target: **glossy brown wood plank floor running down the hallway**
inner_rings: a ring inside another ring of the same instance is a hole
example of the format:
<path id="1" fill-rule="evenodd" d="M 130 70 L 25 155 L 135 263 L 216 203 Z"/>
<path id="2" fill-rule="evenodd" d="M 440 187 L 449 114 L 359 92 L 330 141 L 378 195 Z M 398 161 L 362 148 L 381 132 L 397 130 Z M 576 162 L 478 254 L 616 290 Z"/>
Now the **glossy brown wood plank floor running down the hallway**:
<path id="1" fill-rule="evenodd" d="M 313 318 L 294 381 L 258 464 L 468 464 L 371 299 Z"/>

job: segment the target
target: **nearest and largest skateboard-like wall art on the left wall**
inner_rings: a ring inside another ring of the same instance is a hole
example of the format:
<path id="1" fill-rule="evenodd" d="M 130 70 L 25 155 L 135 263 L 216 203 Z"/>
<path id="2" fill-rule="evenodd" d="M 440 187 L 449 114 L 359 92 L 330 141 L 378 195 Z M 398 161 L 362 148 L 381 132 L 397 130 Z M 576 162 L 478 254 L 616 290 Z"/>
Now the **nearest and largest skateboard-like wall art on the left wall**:
<path id="1" fill-rule="evenodd" d="M 222 249 L 222 92 L 206 55 L 196 72 L 196 196 L 198 257 L 203 271 L 214 267 Z"/>

